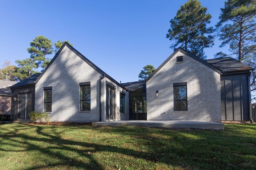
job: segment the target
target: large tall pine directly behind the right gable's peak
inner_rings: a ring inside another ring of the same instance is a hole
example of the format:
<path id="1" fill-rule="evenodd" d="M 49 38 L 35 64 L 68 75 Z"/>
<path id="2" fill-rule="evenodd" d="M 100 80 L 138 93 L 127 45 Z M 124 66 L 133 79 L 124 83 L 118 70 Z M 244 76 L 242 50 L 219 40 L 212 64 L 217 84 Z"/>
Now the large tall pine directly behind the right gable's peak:
<path id="1" fill-rule="evenodd" d="M 198 0 L 189 0 L 178 10 L 174 19 L 170 20 L 171 28 L 166 38 L 176 40 L 170 46 L 174 50 L 181 46 L 192 54 L 206 59 L 204 48 L 214 45 L 213 27 L 206 28 L 212 16 L 206 14 L 206 7 L 202 7 Z M 207 36 L 208 35 L 208 36 Z"/>

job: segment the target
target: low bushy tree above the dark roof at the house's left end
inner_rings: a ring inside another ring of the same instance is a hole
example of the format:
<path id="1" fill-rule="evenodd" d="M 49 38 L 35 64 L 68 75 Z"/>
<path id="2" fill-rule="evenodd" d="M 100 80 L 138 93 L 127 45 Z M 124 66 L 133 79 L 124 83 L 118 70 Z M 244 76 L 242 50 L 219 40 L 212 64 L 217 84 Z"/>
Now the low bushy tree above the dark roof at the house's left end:
<path id="1" fill-rule="evenodd" d="M 14 74 L 18 81 L 21 81 L 35 73 L 38 73 L 38 71 L 35 71 L 35 69 L 38 68 L 38 65 L 31 58 L 27 58 L 21 61 L 16 60 L 15 62 L 19 66 Z"/>

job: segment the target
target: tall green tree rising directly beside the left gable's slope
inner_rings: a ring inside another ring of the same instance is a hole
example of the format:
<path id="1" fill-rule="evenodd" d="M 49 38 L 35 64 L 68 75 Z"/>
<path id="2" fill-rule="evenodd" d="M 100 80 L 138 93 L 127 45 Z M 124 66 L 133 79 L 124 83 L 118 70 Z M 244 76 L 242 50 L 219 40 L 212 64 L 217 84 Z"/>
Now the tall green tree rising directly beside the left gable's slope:
<path id="1" fill-rule="evenodd" d="M 46 58 L 46 55 L 52 54 L 52 41 L 44 36 L 37 36 L 32 42 L 27 50 L 30 53 L 30 58 L 36 62 L 38 67 L 45 67 L 50 63 L 50 59 Z"/>

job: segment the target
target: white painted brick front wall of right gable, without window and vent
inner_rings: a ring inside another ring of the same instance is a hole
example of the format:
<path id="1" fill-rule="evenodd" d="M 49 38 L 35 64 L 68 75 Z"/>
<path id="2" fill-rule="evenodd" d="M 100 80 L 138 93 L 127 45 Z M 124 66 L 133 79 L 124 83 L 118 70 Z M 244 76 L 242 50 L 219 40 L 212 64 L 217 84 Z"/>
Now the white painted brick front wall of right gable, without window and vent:
<path id="1" fill-rule="evenodd" d="M 181 55 L 183 61 L 177 63 Z M 174 111 L 173 83 L 182 82 L 187 82 L 188 110 Z M 146 88 L 147 120 L 221 121 L 220 74 L 180 51 L 147 81 Z"/>

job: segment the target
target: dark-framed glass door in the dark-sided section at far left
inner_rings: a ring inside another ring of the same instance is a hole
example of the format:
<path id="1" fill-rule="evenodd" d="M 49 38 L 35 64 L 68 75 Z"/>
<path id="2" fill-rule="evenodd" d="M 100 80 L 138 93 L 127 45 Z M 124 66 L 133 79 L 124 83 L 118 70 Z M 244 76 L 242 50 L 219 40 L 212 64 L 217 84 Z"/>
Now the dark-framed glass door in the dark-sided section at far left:
<path id="1" fill-rule="evenodd" d="M 32 111 L 32 93 L 21 93 L 19 101 L 19 119 L 30 119 L 28 114 Z"/>

